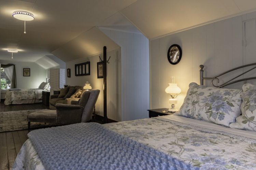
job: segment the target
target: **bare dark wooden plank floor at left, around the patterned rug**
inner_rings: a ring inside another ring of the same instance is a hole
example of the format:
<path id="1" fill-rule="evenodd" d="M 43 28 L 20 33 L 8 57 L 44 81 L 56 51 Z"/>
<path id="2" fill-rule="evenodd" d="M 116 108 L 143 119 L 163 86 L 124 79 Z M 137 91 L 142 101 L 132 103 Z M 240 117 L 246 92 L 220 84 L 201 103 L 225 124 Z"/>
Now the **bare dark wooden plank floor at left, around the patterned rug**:
<path id="1" fill-rule="evenodd" d="M 21 111 L 33 109 L 45 109 L 48 106 L 42 103 L 35 104 L 18 104 L 18 105 L 4 105 L 0 102 L 0 112 Z M 23 143 L 28 139 L 28 130 L 0 132 L 0 170 L 11 169 L 16 155 L 18 154 Z"/>

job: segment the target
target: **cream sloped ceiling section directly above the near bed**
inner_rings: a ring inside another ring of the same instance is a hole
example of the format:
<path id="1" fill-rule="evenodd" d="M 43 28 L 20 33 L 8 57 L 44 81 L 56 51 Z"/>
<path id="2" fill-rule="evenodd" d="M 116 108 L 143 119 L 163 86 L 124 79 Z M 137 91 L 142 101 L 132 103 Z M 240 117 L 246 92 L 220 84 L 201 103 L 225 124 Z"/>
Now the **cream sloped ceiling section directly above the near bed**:
<path id="1" fill-rule="evenodd" d="M 256 0 L 138 0 L 121 12 L 149 39 L 256 10 Z"/>

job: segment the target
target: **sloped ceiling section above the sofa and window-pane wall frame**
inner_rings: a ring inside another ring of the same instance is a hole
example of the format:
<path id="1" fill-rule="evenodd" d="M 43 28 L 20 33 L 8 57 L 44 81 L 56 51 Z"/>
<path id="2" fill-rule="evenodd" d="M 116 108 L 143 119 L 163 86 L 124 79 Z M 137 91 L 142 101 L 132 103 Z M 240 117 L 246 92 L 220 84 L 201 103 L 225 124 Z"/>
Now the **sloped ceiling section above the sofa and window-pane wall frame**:
<path id="1" fill-rule="evenodd" d="M 103 46 L 107 46 L 107 51 L 119 48 L 113 40 L 102 33 L 97 27 L 94 27 L 52 53 L 61 58 L 61 60 L 69 62 L 102 53 Z"/>

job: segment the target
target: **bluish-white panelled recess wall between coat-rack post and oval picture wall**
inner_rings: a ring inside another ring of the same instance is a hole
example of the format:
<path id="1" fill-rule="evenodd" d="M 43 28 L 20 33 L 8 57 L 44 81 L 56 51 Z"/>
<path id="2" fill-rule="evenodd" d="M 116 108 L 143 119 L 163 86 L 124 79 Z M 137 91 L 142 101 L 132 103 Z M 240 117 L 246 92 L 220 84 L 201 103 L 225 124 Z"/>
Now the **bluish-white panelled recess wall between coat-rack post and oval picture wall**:
<path id="1" fill-rule="evenodd" d="M 121 47 L 122 120 L 148 118 L 149 41 L 142 34 L 100 29 Z"/>

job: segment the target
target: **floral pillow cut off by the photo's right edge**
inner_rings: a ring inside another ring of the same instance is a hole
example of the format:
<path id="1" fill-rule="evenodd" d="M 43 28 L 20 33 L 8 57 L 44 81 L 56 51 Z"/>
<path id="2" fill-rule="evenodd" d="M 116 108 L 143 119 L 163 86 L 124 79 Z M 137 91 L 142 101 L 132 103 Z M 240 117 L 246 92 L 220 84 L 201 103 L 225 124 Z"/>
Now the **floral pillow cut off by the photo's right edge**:
<path id="1" fill-rule="evenodd" d="M 242 115 L 237 117 L 235 123 L 231 123 L 230 128 L 256 131 L 256 86 L 252 84 L 243 85 L 242 94 Z"/>

